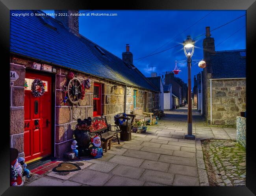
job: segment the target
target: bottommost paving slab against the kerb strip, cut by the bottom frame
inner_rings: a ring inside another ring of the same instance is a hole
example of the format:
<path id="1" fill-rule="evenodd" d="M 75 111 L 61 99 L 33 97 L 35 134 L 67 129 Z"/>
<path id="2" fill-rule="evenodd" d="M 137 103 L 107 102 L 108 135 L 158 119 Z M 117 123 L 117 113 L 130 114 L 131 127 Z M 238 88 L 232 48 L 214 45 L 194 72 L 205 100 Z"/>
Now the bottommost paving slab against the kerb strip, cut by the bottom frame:
<path id="1" fill-rule="evenodd" d="M 173 186 L 199 186 L 199 179 L 197 177 L 175 174 Z"/>

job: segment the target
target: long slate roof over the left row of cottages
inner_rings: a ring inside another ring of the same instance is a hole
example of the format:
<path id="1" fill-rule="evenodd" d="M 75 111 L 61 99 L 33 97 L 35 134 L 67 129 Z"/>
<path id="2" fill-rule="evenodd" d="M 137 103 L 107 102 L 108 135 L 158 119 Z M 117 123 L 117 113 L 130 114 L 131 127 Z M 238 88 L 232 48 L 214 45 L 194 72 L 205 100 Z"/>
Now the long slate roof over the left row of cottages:
<path id="1" fill-rule="evenodd" d="M 30 15 L 33 11 L 10 11 L 10 52 L 12 54 L 158 91 L 137 68 L 132 69 L 133 65 L 125 63 L 87 38 L 75 36 L 58 20 L 46 16 L 47 22 L 55 27 L 54 29 L 44 25 L 39 16 L 12 16 L 12 13 Z M 102 55 L 95 45 L 105 55 Z"/>

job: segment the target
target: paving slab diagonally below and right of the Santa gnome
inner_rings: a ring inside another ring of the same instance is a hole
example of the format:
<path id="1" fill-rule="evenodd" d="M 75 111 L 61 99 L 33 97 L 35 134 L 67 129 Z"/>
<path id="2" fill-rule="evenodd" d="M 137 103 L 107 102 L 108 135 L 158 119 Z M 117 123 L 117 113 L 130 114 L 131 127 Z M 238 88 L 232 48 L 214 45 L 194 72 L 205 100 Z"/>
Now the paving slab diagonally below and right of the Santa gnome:
<path id="1" fill-rule="evenodd" d="M 115 155 L 113 158 L 109 160 L 109 162 L 133 166 L 133 167 L 139 167 L 144 162 L 144 159 L 134 158 L 130 156 Z"/>

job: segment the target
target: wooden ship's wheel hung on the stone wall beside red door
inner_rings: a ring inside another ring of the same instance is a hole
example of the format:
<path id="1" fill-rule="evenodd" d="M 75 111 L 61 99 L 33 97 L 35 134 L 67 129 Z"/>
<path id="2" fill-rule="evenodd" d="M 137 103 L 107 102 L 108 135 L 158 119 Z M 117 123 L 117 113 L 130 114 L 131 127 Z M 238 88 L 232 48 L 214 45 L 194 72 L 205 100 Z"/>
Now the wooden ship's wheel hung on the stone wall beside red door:
<path id="1" fill-rule="evenodd" d="M 73 78 L 69 81 L 67 94 L 69 101 L 72 104 L 79 104 L 82 97 L 82 84 L 78 78 Z"/>

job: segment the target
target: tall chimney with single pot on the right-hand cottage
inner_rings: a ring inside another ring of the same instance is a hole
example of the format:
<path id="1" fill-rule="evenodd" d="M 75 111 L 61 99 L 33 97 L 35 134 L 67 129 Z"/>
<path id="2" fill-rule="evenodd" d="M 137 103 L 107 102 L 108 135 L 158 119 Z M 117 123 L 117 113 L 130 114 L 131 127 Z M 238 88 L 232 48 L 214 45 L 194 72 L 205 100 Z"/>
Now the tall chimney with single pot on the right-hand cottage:
<path id="1" fill-rule="evenodd" d="M 211 73 L 210 66 L 210 54 L 215 52 L 214 38 L 211 37 L 210 27 L 206 27 L 206 38 L 203 40 L 203 50 L 204 50 L 204 61 L 206 62 L 206 69 L 208 73 Z"/>

